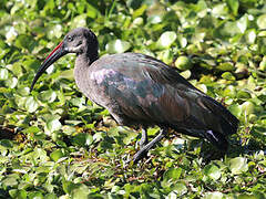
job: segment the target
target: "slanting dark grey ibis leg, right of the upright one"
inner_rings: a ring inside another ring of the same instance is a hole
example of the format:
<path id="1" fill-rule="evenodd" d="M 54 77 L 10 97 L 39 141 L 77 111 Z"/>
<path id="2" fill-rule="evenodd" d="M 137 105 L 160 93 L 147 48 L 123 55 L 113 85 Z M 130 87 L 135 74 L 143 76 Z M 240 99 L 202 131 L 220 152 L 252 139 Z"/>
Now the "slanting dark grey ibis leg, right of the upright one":
<path id="1" fill-rule="evenodd" d="M 160 142 L 163 137 L 165 136 L 165 129 L 161 129 L 158 135 L 151 140 L 149 144 L 143 146 L 134 156 L 133 156 L 133 163 L 136 164 L 140 159 L 142 159 L 146 153 L 157 143 Z"/>

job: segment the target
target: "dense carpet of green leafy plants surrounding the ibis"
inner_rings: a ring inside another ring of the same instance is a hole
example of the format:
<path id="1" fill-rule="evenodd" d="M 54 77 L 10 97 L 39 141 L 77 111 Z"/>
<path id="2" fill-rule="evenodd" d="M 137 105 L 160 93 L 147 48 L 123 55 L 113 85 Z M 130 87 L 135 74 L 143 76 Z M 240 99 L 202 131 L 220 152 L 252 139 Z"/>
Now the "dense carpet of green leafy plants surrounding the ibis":
<path id="1" fill-rule="evenodd" d="M 0 198 L 266 197 L 264 0 L 1 0 L 0 27 Z M 241 121 L 228 154 L 172 133 L 125 167 L 140 132 L 79 92 L 74 55 L 30 93 L 45 55 L 76 27 L 96 33 L 101 54 L 155 56 L 227 106 Z"/>

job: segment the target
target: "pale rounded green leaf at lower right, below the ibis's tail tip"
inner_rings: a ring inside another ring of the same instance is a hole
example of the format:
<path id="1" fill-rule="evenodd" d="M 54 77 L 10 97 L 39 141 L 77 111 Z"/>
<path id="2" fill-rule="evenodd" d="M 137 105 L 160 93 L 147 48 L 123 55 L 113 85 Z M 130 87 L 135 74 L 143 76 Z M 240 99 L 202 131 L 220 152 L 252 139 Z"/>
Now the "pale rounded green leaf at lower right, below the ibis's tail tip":
<path id="1" fill-rule="evenodd" d="M 248 170 L 247 159 L 244 157 L 236 157 L 229 160 L 229 169 L 233 175 L 239 175 Z"/>

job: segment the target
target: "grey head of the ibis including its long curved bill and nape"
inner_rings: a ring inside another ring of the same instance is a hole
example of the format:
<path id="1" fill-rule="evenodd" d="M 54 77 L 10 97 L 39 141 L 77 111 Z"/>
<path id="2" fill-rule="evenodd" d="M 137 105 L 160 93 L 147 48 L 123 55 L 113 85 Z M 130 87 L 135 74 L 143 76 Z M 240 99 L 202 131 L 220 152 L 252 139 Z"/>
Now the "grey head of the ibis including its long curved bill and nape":
<path id="1" fill-rule="evenodd" d="M 63 41 L 47 56 L 41 64 L 31 84 L 30 91 L 33 90 L 35 82 L 44 73 L 44 71 L 57 60 L 68 53 L 76 53 L 78 55 L 85 54 L 89 60 L 94 61 L 98 57 L 96 35 L 86 28 L 78 28 L 70 31 L 64 36 Z"/>

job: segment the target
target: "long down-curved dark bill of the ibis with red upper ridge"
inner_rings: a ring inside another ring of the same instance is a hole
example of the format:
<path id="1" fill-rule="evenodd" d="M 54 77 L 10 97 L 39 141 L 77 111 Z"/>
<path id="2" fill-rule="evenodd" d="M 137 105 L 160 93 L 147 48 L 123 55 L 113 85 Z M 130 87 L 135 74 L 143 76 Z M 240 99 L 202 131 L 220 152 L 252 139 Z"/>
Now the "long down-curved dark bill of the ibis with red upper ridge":
<path id="1" fill-rule="evenodd" d="M 63 55 L 65 55 L 68 52 L 64 50 L 64 48 L 62 46 L 63 42 L 61 42 L 44 60 L 44 62 L 41 64 L 41 66 L 39 67 L 33 82 L 31 83 L 31 87 L 30 91 L 33 90 L 34 84 L 37 83 L 38 78 L 42 75 L 42 73 L 44 73 L 44 71 L 52 65 L 57 60 L 59 60 L 60 57 L 62 57 Z"/>

